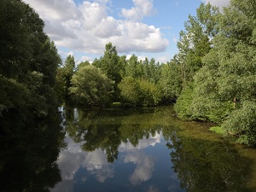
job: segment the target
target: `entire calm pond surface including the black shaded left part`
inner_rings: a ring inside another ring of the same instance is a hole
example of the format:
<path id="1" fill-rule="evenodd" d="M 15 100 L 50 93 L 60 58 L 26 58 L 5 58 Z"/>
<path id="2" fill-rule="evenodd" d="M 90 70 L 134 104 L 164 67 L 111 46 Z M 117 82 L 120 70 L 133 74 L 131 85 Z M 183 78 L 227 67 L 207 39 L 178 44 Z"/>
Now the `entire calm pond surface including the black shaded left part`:
<path id="1" fill-rule="evenodd" d="M 61 126 L 57 119 L 16 132 L 6 125 L 0 191 L 256 191 L 255 149 L 173 113 L 67 108 Z"/>

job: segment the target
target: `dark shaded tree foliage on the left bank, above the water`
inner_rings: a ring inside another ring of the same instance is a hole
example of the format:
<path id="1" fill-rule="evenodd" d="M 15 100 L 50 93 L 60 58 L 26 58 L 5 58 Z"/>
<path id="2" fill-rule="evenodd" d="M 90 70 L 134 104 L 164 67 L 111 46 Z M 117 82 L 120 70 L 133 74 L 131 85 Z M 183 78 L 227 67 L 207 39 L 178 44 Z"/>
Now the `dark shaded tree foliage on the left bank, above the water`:
<path id="1" fill-rule="evenodd" d="M 26 3 L 3 0 L 0 7 L 0 114 L 45 117 L 57 108 L 60 55 L 44 33 L 44 21 Z"/>

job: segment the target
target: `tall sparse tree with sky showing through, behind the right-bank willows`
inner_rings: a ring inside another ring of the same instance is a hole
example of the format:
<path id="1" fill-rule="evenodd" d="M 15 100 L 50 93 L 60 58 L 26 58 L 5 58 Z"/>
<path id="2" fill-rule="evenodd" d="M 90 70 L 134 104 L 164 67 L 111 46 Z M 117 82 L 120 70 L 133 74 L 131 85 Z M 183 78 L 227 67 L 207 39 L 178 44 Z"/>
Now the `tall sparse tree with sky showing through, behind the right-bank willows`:
<path id="1" fill-rule="evenodd" d="M 193 81 L 195 73 L 203 65 L 202 57 L 211 49 L 211 40 L 218 33 L 218 15 L 217 8 L 209 3 L 201 3 L 196 16 L 189 15 L 189 20 L 184 23 L 185 30 L 180 32 L 177 43 L 177 60 L 182 73 L 183 89 L 188 82 Z"/>

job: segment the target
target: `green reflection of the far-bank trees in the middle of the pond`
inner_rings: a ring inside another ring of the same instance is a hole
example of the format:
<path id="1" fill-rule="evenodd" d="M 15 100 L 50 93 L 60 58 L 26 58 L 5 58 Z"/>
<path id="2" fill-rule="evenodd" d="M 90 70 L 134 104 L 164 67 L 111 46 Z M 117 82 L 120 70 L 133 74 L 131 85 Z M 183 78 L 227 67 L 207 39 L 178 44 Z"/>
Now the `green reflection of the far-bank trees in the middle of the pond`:
<path id="1" fill-rule="evenodd" d="M 108 162 L 117 160 L 122 142 L 130 142 L 136 147 L 143 137 L 148 138 L 150 133 L 154 136 L 157 130 L 160 131 L 157 119 L 152 117 L 154 113 L 148 111 L 143 117 L 142 114 L 131 115 L 131 111 L 127 116 L 127 112 L 116 110 L 67 111 L 66 128 L 73 141 L 83 143 L 84 151 L 101 148 L 107 154 Z"/>

